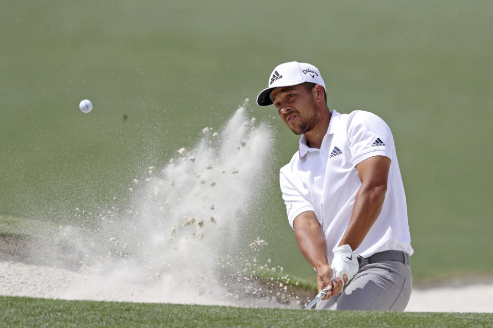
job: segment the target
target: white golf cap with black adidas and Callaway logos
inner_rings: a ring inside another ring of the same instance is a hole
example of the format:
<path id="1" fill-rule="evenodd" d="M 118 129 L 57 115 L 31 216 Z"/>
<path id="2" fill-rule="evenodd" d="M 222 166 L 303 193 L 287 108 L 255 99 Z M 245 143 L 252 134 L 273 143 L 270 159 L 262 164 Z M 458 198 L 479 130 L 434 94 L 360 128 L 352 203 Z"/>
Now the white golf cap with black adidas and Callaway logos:
<path id="1" fill-rule="evenodd" d="M 304 82 L 319 84 L 326 90 L 325 82 L 315 66 L 297 61 L 278 65 L 269 76 L 268 88 L 258 94 L 257 105 L 272 105 L 271 92 L 275 88 L 295 86 Z"/>

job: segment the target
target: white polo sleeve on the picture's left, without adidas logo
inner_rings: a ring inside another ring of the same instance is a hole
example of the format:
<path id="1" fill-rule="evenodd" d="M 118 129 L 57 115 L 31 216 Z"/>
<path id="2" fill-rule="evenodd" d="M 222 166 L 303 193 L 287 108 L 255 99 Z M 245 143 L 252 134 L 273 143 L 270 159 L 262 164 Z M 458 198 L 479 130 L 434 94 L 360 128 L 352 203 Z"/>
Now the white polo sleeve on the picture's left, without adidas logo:
<path id="1" fill-rule="evenodd" d="M 305 190 L 302 188 L 302 186 L 300 186 L 301 182 L 296 181 L 296 179 L 288 179 L 282 169 L 279 173 L 279 183 L 282 199 L 284 199 L 286 204 L 286 214 L 288 215 L 289 225 L 293 228 L 293 221 L 299 214 L 313 211 L 313 204 L 307 198 L 309 191 L 308 189 Z"/>

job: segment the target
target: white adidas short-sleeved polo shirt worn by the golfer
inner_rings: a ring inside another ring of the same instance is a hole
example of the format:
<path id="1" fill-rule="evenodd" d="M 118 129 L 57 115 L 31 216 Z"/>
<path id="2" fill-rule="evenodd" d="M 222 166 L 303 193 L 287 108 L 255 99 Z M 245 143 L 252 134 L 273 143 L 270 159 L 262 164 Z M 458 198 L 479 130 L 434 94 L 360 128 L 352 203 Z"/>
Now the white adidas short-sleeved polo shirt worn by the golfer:
<path id="1" fill-rule="evenodd" d="M 288 165 L 280 169 L 282 198 L 289 224 L 299 214 L 314 211 L 325 234 L 329 263 L 333 249 L 343 237 L 362 183 L 355 166 L 372 156 L 391 159 L 387 192 L 382 211 L 356 255 L 368 257 L 387 250 L 411 255 L 406 197 L 395 154 L 394 140 L 387 124 L 375 114 L 332 111 L 329 128 L 320 149 L 307 146 L 305 135 Z"/>

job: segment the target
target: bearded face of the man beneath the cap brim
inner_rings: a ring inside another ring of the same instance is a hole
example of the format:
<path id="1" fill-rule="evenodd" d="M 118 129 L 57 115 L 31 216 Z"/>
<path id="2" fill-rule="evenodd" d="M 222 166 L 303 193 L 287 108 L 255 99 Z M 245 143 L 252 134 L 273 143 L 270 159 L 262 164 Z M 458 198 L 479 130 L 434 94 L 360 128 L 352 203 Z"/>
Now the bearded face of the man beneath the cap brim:
<path id="1" fill-rule="evenodd" d="M 279 117 L 294 134 L 306 133 L 317 124 L 318 110 L 314 95 L 305 86 L 276 88 L 271 98 Z"/>

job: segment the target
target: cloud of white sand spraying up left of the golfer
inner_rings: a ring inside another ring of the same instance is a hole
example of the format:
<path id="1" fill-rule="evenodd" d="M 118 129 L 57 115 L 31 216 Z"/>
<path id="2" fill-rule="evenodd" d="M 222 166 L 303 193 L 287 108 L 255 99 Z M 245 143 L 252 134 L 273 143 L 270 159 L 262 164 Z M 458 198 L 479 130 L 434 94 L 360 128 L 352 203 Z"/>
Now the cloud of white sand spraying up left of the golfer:
<path id="1" fill-rule="evenodd" d="M 279 306 L 283 284 L 271 279 L 276 288 L 268 291 L 257 276 L 280 274 L 282 268 L 270 259 L 260 263 L 257 255 L 269 239 L 248 233 L 268 179 L 273 136 L 248 116 L 247 105 L 248 99 L 222 130 L 198 131 L 195 147 L 176 149 L 161 167 L 129 178 L 126 208 L 75 209 L 75 216 L 93 224 L 60 226 L 54 234 L 54 244 L 69 245 L 72 268 L 56 277 L 52 268 L 38 267 L 39 274 L 48 270 L 46 279 L 55 280 L 47 295 Z M 53 262 L 60 258 L 58 251 L 43 252 Z"/>

